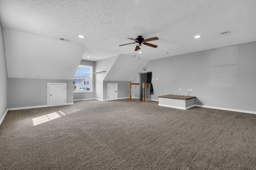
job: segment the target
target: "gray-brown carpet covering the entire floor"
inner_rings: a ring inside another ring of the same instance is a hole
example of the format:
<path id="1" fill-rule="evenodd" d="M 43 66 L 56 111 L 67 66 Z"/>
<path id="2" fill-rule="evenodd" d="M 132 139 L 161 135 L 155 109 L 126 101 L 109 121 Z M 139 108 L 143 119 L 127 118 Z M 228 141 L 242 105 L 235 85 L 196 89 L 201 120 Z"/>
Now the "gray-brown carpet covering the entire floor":
<path id="1" fill-rule="evenodd" d="M 128 99 L 9 111 L 0 169 L 256 169 L 256 115 Z"/>

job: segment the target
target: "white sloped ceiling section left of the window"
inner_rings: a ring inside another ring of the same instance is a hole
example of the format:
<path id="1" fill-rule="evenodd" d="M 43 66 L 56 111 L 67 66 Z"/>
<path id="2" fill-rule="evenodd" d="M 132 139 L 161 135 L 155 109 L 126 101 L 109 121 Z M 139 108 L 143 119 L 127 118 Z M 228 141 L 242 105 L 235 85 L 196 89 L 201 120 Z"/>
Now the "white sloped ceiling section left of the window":
<path id="1" fill-rule="evenodd" d="M 72 80 L 84 47 L 4 29 L 9 78 Z"/>

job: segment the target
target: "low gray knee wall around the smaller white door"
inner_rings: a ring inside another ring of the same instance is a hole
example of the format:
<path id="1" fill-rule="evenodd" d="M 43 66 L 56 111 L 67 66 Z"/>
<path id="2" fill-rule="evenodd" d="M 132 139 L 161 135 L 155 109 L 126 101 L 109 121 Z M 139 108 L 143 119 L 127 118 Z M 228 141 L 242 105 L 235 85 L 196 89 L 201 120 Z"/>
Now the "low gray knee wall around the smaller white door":
<path id="1" fill-rule="evenodd" d="M 108 83 L 118 84 L 118 98 L 127 98 L 130 96 L 129 81 L 103 81 L 103 100 L 108 99 Z M 122 94 L 124 92 L 124 94 Z"/>

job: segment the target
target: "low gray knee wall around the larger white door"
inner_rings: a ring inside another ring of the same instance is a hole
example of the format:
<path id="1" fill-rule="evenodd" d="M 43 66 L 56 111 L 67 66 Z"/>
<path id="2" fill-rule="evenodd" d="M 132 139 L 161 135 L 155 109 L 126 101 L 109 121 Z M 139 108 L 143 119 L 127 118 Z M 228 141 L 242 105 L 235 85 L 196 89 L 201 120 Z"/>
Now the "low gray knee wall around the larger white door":
<path id="1" fill-rule="evenodd" d="M 73 103 L 73 80 L 8 78 L 8 108 L 47 105 L 47 83 L 66 83 L 67 104 Z"/>

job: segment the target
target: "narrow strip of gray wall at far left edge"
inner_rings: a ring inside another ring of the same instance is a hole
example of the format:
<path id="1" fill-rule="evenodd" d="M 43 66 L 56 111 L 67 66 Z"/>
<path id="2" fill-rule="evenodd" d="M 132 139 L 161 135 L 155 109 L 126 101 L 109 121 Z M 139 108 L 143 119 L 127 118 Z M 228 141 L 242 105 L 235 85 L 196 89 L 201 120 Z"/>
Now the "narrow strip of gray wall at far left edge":
<path id="1" fill-rule="evenodd" d="M 5 57 L 5 49 L 4 49 L 4 37 L 2 25 L 0 23 L 0 120 L 4 116 L 4 113 L 7 110 L 8 102 L 7 102 L 7 65 L 6 65 L 6 57 Z M 5 105 L 5 102 L 6 105 Z M 1 124 L 1 122 L 0 122 Z"/>

